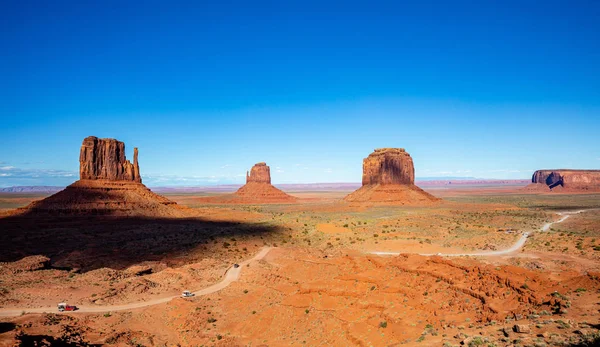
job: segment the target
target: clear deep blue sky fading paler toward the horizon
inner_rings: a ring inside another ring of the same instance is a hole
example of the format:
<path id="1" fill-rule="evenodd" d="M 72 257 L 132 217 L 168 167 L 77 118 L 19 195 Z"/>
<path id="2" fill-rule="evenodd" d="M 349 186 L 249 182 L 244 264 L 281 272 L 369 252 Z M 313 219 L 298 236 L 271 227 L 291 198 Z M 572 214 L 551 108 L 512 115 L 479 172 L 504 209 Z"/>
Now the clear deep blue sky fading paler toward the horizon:
<path id="1" fill-rule="evenodd" d="M 124 4 L 127 3 L 127 4 Z M 598 1 L 3 1 L 0 186 L 78 177 L 84 137 L 144 181 L 358 182 L 600 168 Z"/>

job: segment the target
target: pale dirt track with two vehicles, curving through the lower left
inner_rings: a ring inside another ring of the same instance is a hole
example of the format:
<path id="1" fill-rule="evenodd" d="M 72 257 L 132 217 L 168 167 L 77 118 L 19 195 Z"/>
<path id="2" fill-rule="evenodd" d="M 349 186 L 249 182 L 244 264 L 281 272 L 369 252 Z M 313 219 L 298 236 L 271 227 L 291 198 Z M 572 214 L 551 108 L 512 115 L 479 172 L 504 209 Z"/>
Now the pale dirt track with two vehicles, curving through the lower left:
<path id="1" fill-rule="evenodd" d="M 212 286 L 206 287 L 204 289 L 195 291 L 195 292 L 193 292 L 194 295 L 195 296 L 208 295 L 208 294 L 212 294 L 212 293 L 218 292 L 219 290 L 226 288 L 232 282 L 235 282 L 240 278 L 240 274 L 241 274 L 244 266 L 250 264 L 253 261 L 261 260 L 262 258 L 264 258 L 267 255 L 267 253 L 269 253 L 269 251 L 271 249 L 272 249 L 272 247 L 264 247 L 253 258 L 239 263 L 239 267 L 234 267 L 234 266 L 230 267 L 225 272 L 225 276 L 223 277 L 221 282 L 215 283 Z M 149 300 L 149 301 L 134 302 L 131 304 L 114 305 L 114 306 L 78 306 L 77 311 L 72 311 L 69 313 L 103 313 L 103 312 L 132 310 L 132 309 L 136 309 L 136 308 L 164 304 L 166 302 L 169 302 L 169 301 L 179 298 L 179 297 L 180 297 L 179 295 L 168 296 L 168 297 Z M 20 316 L 21 314 L 23 314 L 23 312 L 26 312 L 26 313 L 45 313 L 45 312 L 58 313 L 56 306 L 55 307 L 40 307 L 40 308 L 23 308 L 23 309 L 11 308 L 11 309 L 0 309 L 0 317 Z"/>

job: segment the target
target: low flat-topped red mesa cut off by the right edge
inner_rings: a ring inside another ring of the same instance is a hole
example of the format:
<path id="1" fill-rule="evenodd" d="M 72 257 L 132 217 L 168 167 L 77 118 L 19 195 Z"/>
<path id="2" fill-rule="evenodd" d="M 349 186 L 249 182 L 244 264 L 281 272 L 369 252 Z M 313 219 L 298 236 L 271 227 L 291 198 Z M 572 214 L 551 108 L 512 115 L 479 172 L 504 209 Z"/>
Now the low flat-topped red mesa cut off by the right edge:
<path id="1" fill-rule="evenodd" d="M 600 191 L 600 170 L 537 170 L 531 184 L 533 191 Z"/>

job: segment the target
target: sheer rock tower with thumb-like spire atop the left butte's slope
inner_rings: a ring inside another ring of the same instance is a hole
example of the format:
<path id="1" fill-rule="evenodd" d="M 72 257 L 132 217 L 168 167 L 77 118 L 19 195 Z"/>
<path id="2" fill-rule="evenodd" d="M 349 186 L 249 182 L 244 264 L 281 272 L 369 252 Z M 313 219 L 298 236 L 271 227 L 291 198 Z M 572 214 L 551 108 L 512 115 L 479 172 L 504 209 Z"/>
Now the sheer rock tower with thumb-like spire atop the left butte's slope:
<path id="1" fill-rule="evenodd" d="M 133 150 L 133 164 L 125 158 L 125 144 L 115 139 L 86 137 L 79 151 L 79 178 L 142 182 L 138 150 Z"/>

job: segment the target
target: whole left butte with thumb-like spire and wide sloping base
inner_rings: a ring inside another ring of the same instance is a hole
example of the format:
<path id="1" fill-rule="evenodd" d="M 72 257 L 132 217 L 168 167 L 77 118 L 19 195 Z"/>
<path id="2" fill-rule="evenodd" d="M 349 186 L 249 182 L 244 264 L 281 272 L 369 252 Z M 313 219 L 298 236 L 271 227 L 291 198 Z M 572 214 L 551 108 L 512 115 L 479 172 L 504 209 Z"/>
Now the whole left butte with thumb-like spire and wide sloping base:
<path id="1" fill-rule="evenodd" d="M 79 180 L 15 214 L 180 217 L 185 208 L 142 184 L 138 150 L 133 164 L 125 144 L 115 139 L 86 137 L 79 152 Z"/>

